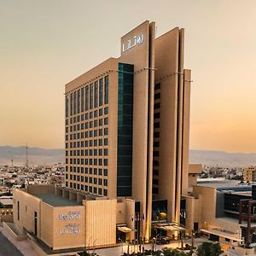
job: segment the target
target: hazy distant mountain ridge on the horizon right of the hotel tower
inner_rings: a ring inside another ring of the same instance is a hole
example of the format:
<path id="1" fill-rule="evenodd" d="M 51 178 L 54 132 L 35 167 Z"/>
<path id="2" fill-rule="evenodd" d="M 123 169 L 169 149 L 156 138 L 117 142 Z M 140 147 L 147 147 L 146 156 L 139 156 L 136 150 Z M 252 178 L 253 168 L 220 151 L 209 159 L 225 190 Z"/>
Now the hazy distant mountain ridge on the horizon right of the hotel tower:
<path id="1" fill-rule="evenodd" d="M 256 154 L 229 153 L 211 150 L 190 150 L 189 162 L 207 166 L 256 166 Z"/>

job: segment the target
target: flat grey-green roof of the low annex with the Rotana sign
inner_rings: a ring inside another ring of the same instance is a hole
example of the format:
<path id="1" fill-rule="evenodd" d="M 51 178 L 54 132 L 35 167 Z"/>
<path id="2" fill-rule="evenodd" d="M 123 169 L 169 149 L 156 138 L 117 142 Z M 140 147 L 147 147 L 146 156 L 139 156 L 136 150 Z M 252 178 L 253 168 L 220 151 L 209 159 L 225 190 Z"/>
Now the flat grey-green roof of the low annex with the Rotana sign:
<path id="1" fill-rule="evenodd" d="M 69 200 L 66 197 L 61 197 L 60 195 L 55 194 L 32 194 L 42 199 L 45 203 L 49 204 L 52 207 L 75 207 L 82 206 L 82 203 L 79 203 L 74 200 Z"/>

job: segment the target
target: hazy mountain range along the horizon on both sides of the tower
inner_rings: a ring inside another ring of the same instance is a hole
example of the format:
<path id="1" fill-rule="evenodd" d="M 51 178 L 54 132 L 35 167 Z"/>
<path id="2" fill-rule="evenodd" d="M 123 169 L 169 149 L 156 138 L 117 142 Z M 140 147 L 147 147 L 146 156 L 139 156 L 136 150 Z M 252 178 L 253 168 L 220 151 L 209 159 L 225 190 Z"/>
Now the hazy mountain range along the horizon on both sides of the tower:
<path id="1" fill-rule="evenodd" d="M 28 161 L 30 165 L 55 164 L 65 161 L 64 149 L 28 148 Z M 0 147 L 0 165 L 25 165 L 26 147 Z M 256 154 L 228 153 L 224 151 L 190 150 L 190 163 L 207 166 L 256 166 Z"/>

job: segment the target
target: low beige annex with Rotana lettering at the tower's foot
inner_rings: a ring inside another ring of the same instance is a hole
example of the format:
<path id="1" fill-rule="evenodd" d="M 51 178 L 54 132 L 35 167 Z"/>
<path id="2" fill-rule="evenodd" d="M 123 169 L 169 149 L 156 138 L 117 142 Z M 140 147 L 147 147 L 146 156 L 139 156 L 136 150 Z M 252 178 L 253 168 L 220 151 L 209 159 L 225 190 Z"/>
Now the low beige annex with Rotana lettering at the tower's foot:
<path id="1" fill-rule="evenodd" d="M 55 185 L 14 190 L 16 227 L 52 251 L 114 246 L 116 227 L 130 239 L 134 207 L 130 199 L 117 201 Z"/>

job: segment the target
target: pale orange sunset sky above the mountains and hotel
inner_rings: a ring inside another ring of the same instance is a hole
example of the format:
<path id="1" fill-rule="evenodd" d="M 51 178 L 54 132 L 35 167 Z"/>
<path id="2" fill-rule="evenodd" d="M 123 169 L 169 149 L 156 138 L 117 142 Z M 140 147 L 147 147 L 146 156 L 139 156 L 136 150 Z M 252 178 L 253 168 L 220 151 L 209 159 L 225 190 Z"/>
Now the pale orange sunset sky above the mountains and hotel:
<path id="1" fill-rule="evenodd" d="M 0 146 L 64 146 L 64 84 L 144 20 L 185 28 L 190 148 L 256 152 L 256 1 L 0 0 Z"/>

